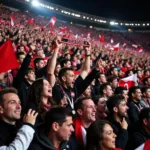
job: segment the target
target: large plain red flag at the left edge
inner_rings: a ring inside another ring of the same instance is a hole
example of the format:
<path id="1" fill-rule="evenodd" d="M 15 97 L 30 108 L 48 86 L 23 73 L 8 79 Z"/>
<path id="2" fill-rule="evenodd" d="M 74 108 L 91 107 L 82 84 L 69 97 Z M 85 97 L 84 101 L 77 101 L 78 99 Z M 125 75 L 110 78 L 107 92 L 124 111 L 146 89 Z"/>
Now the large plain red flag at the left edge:
<path id="1" fill-rule="evenodd" d="M 19 68 L 19 63 L 17 61 L 11 40 L 6 41 L 2 46 L 0 46 L 0 73 L 6 72 L 10 69 Z"/>

